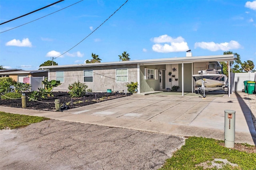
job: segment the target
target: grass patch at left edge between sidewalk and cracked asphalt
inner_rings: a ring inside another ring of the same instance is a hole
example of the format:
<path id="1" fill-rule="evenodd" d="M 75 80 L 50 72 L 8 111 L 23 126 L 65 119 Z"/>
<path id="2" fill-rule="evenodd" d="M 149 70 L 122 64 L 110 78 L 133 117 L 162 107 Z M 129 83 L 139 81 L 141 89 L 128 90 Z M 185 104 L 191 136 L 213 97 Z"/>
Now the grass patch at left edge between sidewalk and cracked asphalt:
<path id="1" fill-rule="evenodd" d="M 0 130 L 25 127 L 45 120 L 49 118 L 0 112 Z"/>

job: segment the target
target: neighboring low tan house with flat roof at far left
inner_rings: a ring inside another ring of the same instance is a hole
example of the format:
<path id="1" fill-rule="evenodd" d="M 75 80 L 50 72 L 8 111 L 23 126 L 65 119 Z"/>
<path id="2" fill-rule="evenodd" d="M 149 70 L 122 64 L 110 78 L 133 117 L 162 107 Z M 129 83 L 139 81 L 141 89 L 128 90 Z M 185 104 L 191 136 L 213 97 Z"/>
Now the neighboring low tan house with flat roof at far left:
<path id="1" fill-rule="evenodd" d="M 10 70 L 6 69 L 6 71 L 0 71 L 0 77 L 11 77 L 14 81 L 21 83 L 30 83 L 27 82 L 26 78 L 29 77 L 47 77 L 48 71 L 46 70 Z M 25 79 L 24 79 L 25 78 Z"/>

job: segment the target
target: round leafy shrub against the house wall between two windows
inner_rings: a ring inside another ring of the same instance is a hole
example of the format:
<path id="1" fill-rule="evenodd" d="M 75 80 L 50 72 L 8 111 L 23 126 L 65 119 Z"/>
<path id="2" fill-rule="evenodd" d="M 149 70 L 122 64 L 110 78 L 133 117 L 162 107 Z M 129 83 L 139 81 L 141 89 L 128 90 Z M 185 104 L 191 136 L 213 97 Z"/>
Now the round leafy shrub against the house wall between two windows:
<path id="1" fill-rule="evenodd" d="M 71 85 L 68 85 L 68 89 L 70 90 L 68 94 L 70 94 L 71 97 L 83 97 L 86 93 L 86 89 L 88 88 L 88 85 L 81 82 L 74 82 Z"/>

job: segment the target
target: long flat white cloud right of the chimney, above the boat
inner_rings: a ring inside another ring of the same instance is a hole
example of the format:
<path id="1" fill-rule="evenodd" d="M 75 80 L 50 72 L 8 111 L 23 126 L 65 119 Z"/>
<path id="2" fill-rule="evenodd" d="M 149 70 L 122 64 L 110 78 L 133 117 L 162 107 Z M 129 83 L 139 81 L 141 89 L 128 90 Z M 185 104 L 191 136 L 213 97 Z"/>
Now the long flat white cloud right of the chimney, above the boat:
<path id="1" fill-rule="evenodd" d="M 224 42 L 224 43 L 215 43 L 215 42 L 196 42 L 195 43 L 195 48 L 202 48 L 202 49 L 208 49 L 210 51 L 228 51 L 230 49 L 238 49 L 241 48 L 241 45 L 234 41 L 231 40 L 230 42 Z"/>

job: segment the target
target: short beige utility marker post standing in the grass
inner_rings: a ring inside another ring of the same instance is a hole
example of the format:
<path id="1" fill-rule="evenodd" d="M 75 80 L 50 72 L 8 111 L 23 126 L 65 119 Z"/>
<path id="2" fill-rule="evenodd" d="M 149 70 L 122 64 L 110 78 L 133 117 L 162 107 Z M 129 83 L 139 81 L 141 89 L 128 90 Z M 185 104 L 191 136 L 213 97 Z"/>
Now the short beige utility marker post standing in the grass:
<path id="1" fill-rule="evenodd" d="M 225 110 L 224 143 L 227 148 L 235 146 L 235 113 L 236 111 Z"/>

